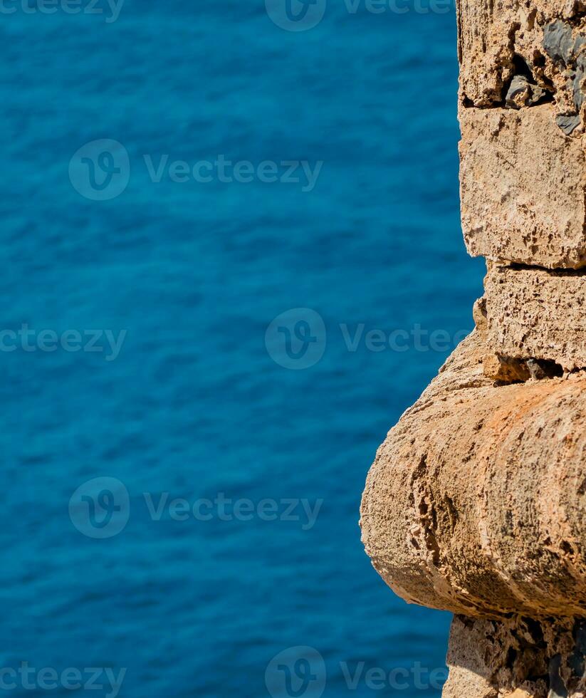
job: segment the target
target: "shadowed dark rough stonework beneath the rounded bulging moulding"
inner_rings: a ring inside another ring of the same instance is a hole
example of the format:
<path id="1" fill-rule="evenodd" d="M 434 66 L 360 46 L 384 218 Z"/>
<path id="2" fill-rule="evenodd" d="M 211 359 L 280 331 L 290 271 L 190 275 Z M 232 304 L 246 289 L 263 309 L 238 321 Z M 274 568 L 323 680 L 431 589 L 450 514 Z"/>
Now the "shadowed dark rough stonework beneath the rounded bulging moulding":
<path id="1" fill-rule="evenodd" d="M 583 618 L 456 616 L 444 698 L 583 698 Z"/>

